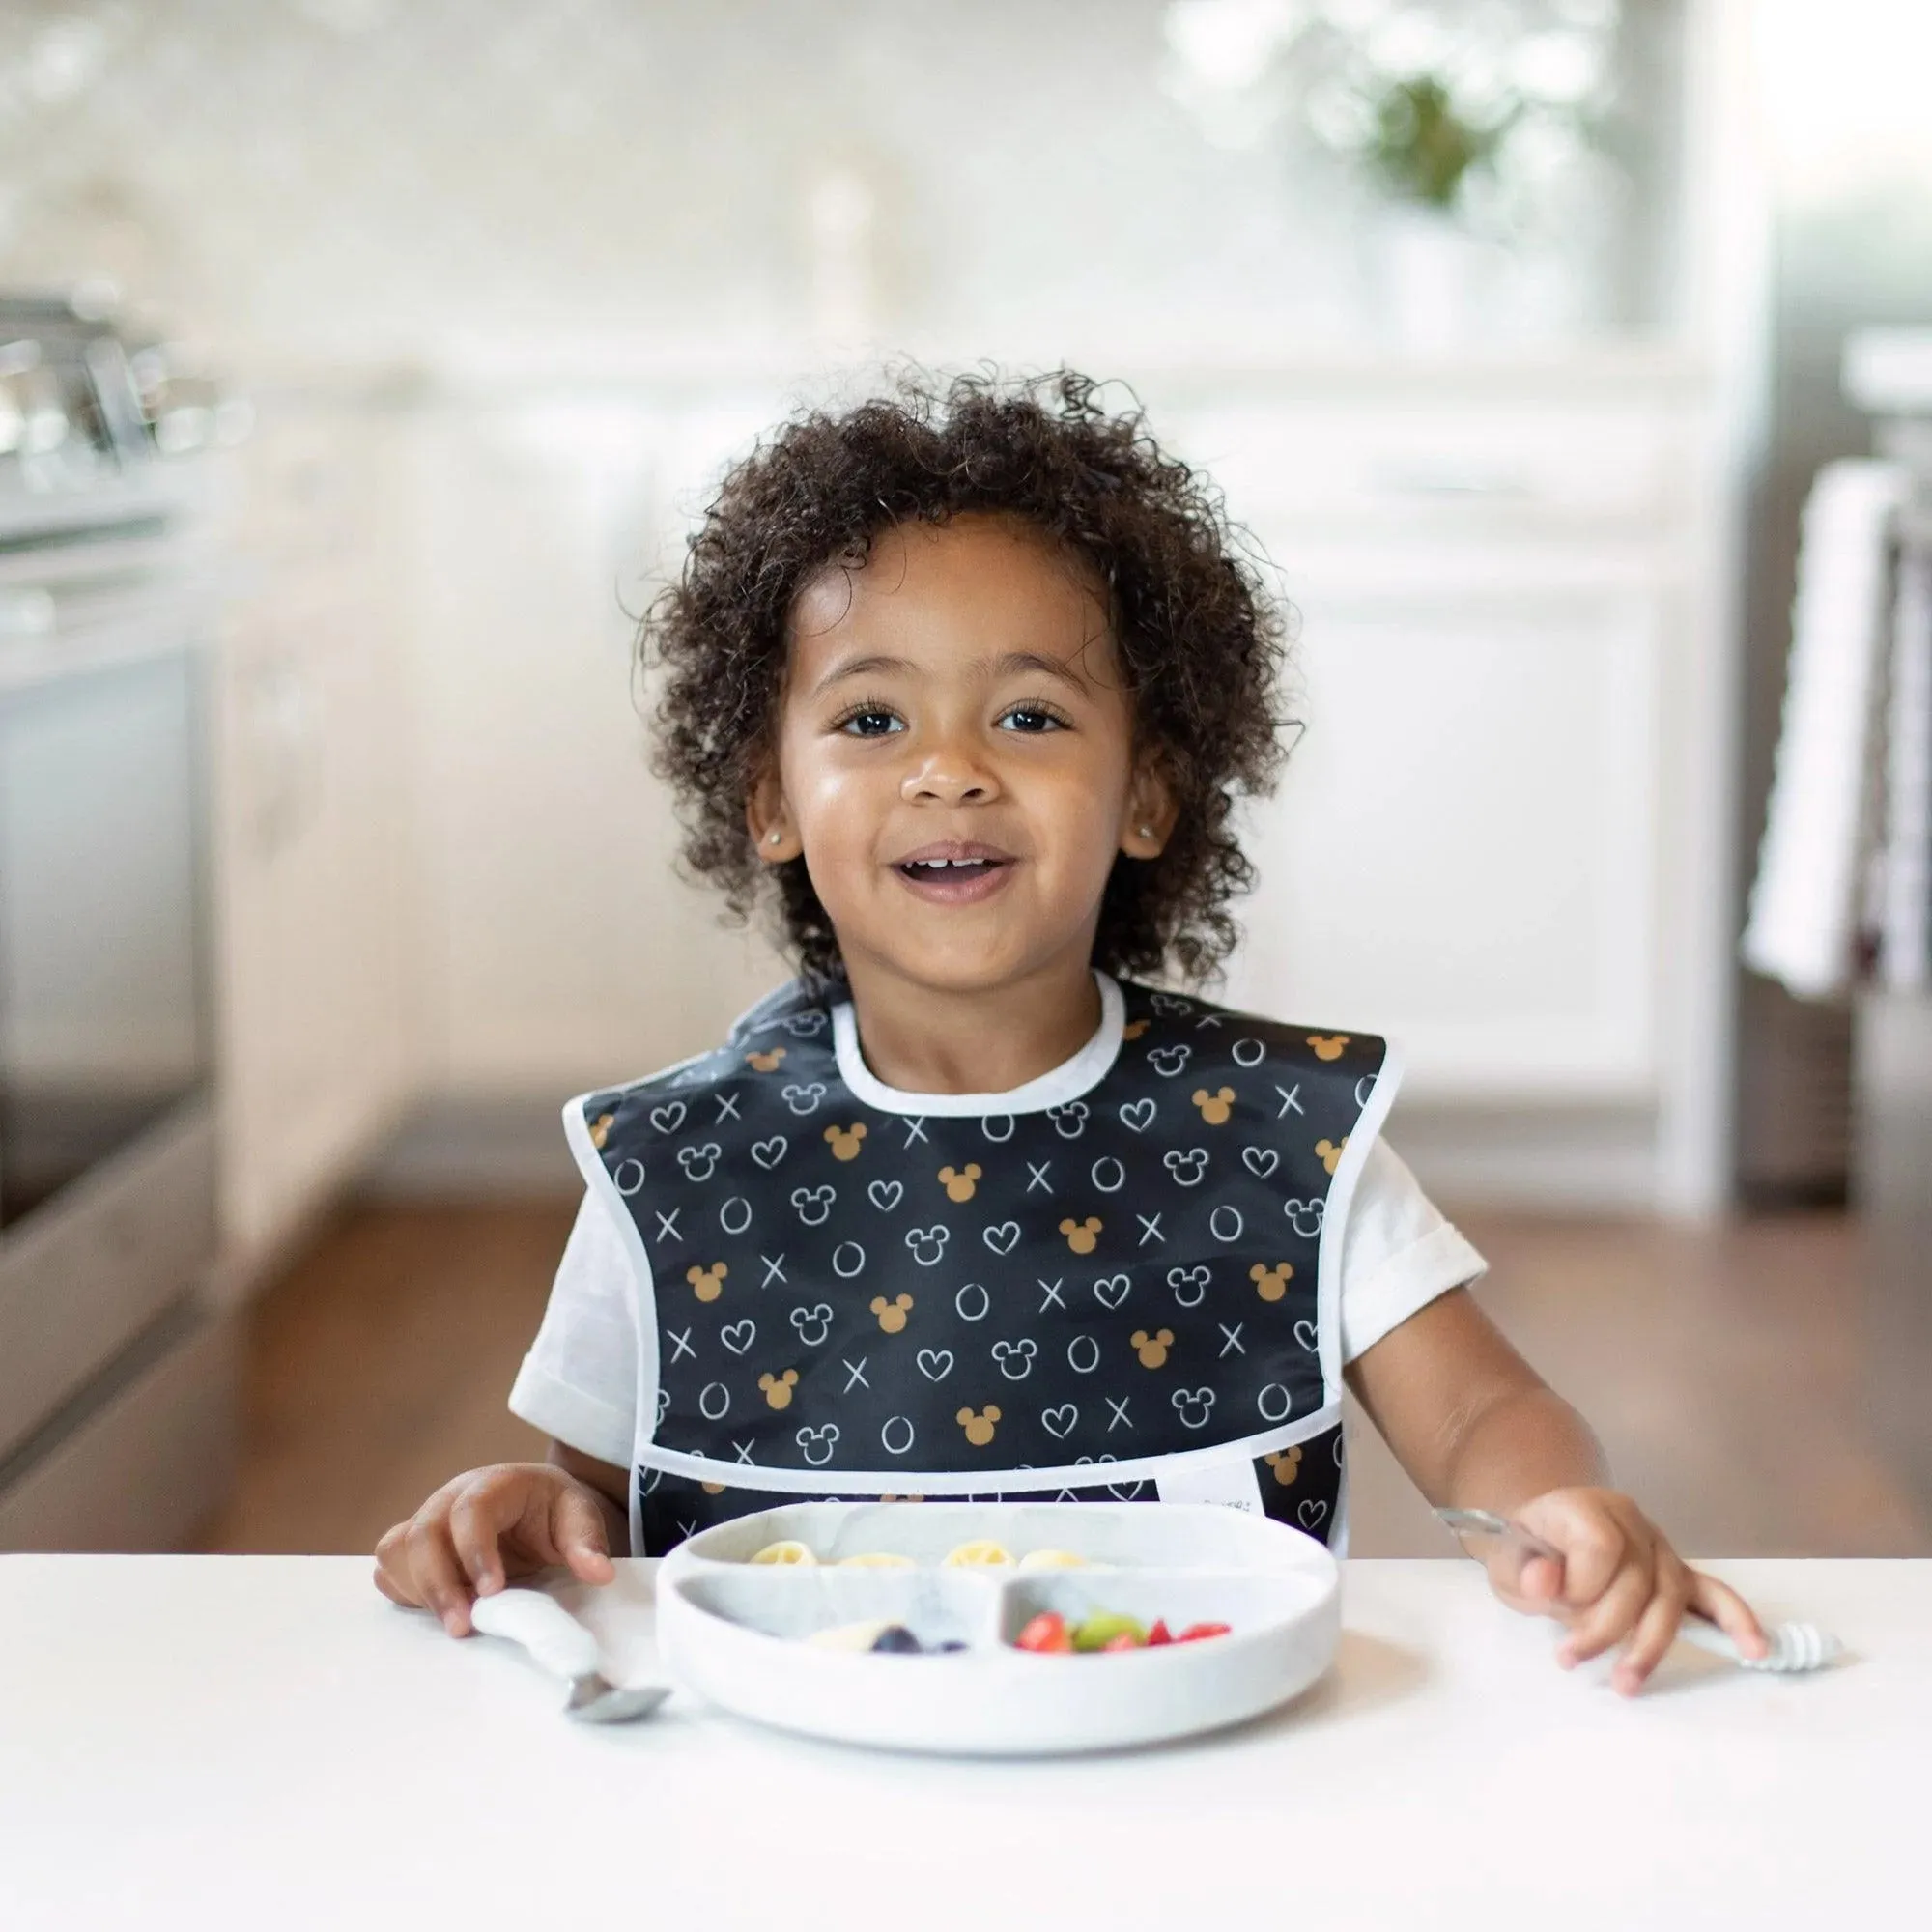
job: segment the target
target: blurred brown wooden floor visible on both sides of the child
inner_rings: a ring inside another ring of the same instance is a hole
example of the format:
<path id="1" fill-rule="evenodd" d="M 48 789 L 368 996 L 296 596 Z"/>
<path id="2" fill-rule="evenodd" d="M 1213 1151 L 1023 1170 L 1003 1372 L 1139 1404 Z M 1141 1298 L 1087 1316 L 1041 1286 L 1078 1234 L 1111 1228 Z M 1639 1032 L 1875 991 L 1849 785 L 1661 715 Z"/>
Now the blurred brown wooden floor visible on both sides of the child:
<path id="1" fill-rule="evenodd" d="M 203 1548 L 357 1551 L 442 1480 L 541 1455 L 502 1403 L 570 1227 L 556 1206 L 348 1211 L 249 1316 L 242 1478 Z M 1862 1258 L 1839 1215 L 1685 1231 L 1468 1213 L 1482 1300 L 1689 1551 L 1924 1555 L 1861 1426 Z M 1443 1538 L 1356 1430 L 1352 1548 Z"/>

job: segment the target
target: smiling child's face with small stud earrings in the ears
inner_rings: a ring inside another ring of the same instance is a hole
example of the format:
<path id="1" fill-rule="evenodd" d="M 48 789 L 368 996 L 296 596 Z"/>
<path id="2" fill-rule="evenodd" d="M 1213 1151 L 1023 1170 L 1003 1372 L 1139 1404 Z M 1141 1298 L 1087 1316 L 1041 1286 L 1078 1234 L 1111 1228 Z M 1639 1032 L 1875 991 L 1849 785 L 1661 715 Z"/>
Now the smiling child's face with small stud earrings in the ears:
<path id="1" fill-rule="evenodd" d="M 895 527 L 804 589 L 777 752 L 752 837 L 804 854 L 854 978 L 1084 970 L 1115 854 L 1173 823 L 1097 583 L 993 516 Z"/>

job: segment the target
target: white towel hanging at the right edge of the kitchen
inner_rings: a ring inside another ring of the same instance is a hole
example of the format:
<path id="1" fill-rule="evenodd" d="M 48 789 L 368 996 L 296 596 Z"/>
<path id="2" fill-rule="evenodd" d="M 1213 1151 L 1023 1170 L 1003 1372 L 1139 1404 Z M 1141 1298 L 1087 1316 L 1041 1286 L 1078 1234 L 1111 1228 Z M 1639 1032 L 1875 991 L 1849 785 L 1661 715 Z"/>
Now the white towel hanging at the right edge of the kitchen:
<path id="1" fill-rule="evenodd" d="M 1826 464 L 1804 504 L 1791 661 L 1745 964 L 1801 999 L 1851 985 L 1884 684 L 1897 464 Z"/>

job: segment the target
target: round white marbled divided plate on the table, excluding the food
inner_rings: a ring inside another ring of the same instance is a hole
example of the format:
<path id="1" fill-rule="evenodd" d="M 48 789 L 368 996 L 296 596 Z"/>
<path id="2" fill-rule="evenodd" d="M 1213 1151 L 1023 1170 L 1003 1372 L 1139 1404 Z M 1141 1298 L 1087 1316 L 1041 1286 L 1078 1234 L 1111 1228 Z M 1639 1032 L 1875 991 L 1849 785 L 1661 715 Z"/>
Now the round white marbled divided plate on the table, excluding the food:
<path id="1" fill-rule="evenodd" d="M 943 1569 L 989 1538 L 1016 1559 L 1066 1549 L 1086 1569 Z M 753 1565 L 796 1540 L 817 1565 Z M 840 1567 L 889 1551 L 910 1569 Z M 1227 1636 L 1109 1656 L 1034 1656 L 1012 1636 L 1041 1609 L 1119 1609 Z M 800 1642 L 867 1617 L 949 1656 Z M 1335 1656 L 1341 1573 L 1298 1530 L 1217 1503 L 796 1503 L 682 1544 L 657 1582 L 665 1663 L 723 1710 L 896 1750 L 1107 1750 L 1238 1723 L 1314 1683 Z"/>

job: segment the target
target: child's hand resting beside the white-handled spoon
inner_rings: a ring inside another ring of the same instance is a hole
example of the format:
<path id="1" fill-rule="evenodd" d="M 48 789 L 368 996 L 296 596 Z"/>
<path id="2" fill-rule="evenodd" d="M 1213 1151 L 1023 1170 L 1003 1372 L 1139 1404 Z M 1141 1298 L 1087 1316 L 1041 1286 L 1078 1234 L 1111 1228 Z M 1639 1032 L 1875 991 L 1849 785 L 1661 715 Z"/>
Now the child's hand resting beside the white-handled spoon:
<path id="1" fill-rule="evenodd" d="M 583 1582 L 616 1575 L 597 1495 L 551 1463 L 495 1463 L 452 1478 L 383 1536 L 375 1586 L 468 1636 L 475 1598 L 553 1563 Z"/>

